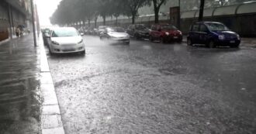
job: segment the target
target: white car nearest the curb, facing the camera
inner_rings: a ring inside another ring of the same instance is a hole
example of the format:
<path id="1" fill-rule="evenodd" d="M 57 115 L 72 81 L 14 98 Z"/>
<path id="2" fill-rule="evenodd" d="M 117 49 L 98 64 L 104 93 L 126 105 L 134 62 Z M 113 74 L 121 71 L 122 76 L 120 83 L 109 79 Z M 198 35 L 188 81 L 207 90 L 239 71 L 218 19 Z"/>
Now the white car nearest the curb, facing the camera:
<path id="1" fill-rule="evenodd" d="M 85 54 L 85 43 L 73 27 L 59 27 L 51 29 L 49 38 L 50 54 L 54 53 L 82 53 Z"/>

